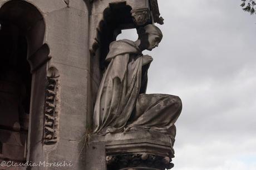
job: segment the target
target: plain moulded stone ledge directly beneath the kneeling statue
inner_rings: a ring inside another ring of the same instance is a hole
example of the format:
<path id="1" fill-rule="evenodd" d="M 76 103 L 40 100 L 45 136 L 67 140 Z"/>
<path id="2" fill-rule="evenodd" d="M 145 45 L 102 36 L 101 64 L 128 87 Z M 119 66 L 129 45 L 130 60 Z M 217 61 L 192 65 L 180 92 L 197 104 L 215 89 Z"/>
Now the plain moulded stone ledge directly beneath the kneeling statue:
<path id="1" fill-rule="evenodd" d="M 92 135 L 91 142 L 106 142 L 106 153 L 145 152 L 174 157 L 173 143 L 169 136 L 157 132 L 137 131 L 107 135 Z"/>

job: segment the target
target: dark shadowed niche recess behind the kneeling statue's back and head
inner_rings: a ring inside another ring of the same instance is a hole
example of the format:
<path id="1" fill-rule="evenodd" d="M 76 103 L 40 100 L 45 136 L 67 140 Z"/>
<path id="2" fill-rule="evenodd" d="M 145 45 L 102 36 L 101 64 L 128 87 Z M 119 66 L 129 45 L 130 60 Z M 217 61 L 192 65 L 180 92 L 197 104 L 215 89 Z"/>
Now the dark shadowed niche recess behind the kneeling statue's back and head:
<path id="1" fill-rule="evenodd" d="M 110 43 L 116 40 L 122 29 L 135 28 L 131 10 L 131 6 L 127 5 L 126 2 L 110 3 L 108 7 L 102 10 L 102 18 L 95 19 L 97 20 L 96 32 L 90 48 L 90 72 L 92 75 L 90 99 L 92 99 L 92 108 L 95 105 L 102 75 L 109 64 L 106 63 L 105 58 L 109 53 Z M 92 126 L 92 116 L 93 111 L 87 115 L 89 129 Z"/>

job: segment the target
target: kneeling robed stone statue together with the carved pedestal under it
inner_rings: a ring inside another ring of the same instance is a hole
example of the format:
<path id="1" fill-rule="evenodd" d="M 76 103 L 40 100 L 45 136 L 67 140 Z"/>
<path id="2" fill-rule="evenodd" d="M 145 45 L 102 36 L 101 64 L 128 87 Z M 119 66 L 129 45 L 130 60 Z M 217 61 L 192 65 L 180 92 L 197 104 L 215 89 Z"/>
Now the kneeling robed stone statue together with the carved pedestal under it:
<path id="1" fill-rule="evenodd" d="M 108 169 L 173 167 L 174 123 L 181 100 L 145 94 L 152 58 L 142 51 L 157 47 L 163 34 L 152 24 L 139 28 L 138 34 L 136 42 L 124 39 L 110 44 L 109 65 L 96 98 L 91 141 L 105 143 Z"/>

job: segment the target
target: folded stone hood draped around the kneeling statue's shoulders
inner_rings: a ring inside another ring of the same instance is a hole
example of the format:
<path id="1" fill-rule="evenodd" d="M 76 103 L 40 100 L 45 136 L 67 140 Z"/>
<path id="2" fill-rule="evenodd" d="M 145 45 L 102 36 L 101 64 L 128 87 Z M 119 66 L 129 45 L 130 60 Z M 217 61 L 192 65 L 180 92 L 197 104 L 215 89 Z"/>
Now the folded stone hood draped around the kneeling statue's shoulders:
<path id="1" fill-rule="evenodd" d="M 141 50 L 134 42 L 128 39 L 117 40 L 110 44 L 109 54 L 106 56 L 106 61 L 110 61 L 117 55 L 123 54 L 141 54 Z"/>

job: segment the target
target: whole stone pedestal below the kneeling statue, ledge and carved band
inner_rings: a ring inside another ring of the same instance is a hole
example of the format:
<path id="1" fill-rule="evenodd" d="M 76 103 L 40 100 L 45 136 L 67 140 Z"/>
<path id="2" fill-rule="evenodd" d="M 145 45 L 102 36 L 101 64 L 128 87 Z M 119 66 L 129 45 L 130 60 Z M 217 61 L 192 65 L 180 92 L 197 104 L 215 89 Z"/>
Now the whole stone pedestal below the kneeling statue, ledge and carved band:
<path id="1" fill-rule="evenodd" d="M 105 153 L 91 150 L 90 155 L 95 157 L 96 154 L 105 154 L 107 170 L 173 168 L 171 163 L 171 158 L 174 157 L 173 146 L 169 136 L 163 134 L 140 131 L 105 136 L 92 135 L 90 143 L 104 143 Z"/>

